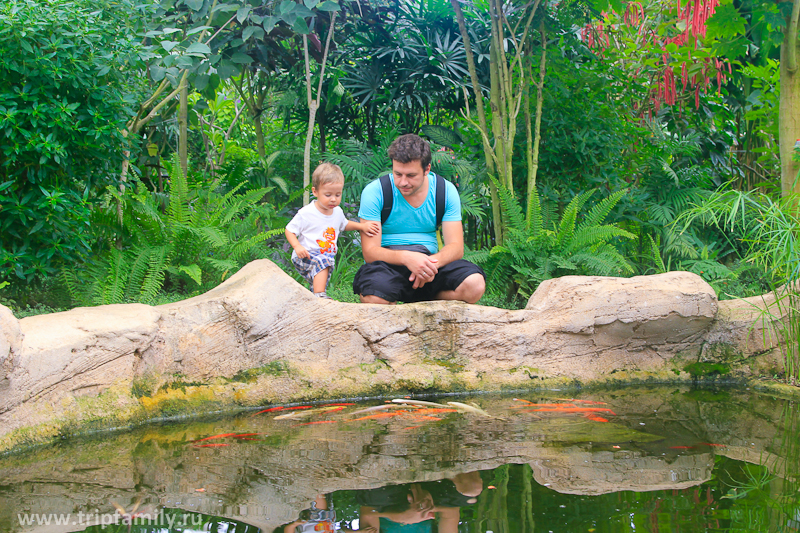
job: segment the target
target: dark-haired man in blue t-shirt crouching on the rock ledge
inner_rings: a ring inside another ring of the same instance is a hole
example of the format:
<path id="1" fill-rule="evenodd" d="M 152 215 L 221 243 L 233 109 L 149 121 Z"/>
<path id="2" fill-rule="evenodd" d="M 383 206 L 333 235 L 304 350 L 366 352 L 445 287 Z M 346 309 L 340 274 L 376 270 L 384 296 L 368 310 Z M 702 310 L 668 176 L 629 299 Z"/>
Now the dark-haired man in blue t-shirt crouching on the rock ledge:
<path id="1" fill-rule="evenodd" d="M 392 160 L 392 210 L 381 232 L 362 232 L 363 265 L 353 280 L 353 292 L 363 303 L 394 304 L 426 300 L 475 303 L 486 290 L 483 270 L 464 256 L 461 201 L 452 183 L 445 184 L 442 240 L 436 239 L 436 180 L 431 149 L 421 137 L 402 135 L 389 146 Z M 440 189 L 441 190 L 441 189 Z M 381 221 L 384 205 L 380 180 L 361 193 L 361 222 Z"/>

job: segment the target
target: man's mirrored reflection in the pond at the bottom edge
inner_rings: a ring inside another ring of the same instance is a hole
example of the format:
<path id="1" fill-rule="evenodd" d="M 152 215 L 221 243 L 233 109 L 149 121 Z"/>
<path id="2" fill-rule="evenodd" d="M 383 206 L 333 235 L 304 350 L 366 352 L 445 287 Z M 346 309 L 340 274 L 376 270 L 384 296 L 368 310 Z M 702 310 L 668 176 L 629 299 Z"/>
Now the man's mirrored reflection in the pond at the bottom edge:
<path id="1" fill-rule="evenodd" d="M 376 533 L 429 533 L 438 516 L 439 533 L 458 533 L 461 507 L 477 502 L 482 491 L 478 472 L 359 491 L 359 526 Z"/>

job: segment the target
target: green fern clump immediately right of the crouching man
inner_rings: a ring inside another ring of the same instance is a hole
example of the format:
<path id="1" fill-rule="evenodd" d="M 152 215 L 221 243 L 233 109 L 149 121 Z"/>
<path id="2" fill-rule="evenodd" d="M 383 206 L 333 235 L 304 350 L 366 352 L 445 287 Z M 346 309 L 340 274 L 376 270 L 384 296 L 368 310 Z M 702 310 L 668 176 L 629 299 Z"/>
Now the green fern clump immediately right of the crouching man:
<path id="1" fill-rule="evenodd" d="M 517 292 L 527 298 L 542 281 L 558 276 L 633 273 L 630 263 L 612 241 L 632 239 L 634 235 L 613 224 L 603 224 L 627 190 L 609 195 L 579 217 L 595 191 L 581 193 L 564 209 L 559 223 L 548 229 L 542 222 L 538 192 L 534 191 L 529 199 L 525 216 L 510 191 L 499 183 L 497 188 L 507 222 L 507 239 L 490 252 L 470 254 L 483 265 L 491 291 L 513 283 Z"/>

